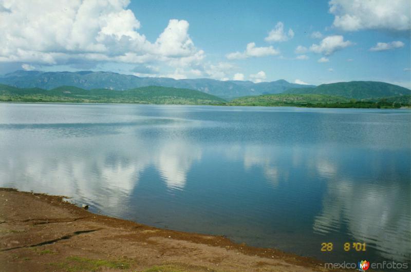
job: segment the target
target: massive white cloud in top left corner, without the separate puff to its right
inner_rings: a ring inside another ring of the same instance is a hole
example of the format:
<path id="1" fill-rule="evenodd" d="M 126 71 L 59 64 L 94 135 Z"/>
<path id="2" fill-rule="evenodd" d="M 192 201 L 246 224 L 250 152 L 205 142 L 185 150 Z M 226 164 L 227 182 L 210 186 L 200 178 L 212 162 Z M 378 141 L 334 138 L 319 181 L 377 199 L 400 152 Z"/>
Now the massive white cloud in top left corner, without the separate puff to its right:
<path id="1" fill-rule="evenodd" d="M 29 59 L 54 64 L 79 54 L 108 57 L 133 46 L 145 48 L 145 37 L 136 31 L 140 22 L 132 11 L 124 9 L 126 4 L 115 1 L 4 3 L 9 12 L 2 12 L 0 16 L 1 44 L 6 45 L 0 49 L 0 56 L 5 61 Z"/>

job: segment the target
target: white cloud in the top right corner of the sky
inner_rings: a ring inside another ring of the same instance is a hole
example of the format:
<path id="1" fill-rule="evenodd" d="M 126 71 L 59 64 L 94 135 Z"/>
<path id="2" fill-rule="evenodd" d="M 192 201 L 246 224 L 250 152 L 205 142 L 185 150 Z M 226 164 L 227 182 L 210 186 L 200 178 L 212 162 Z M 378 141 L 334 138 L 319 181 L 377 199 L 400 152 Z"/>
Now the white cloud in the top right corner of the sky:
<path id="1" fill-rule="evenodd" d="M 330 13 L 333 26 L 345 31 L 385 29 L 403 31 L 410 29 L 409 0 L 331 0 Z"/>

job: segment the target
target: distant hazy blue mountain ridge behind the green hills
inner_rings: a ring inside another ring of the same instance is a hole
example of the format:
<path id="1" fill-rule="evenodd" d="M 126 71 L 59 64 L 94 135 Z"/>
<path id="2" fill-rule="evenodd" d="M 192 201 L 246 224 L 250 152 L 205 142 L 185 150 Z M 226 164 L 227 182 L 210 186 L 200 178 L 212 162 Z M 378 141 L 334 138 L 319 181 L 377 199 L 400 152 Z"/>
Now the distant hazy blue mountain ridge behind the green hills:
<path id="1" fill-rule="evenodd" d="M 245 95 L 281 93 L 290 88 L 315 87 L 285 80 L 253 83 L 251 81 L 218 81 L 212 79 L 175 80 L 167 77 L 138 77 L 114 72 L 41 72 L 18 70 L 0 77 L 0 83 L 19 88 L 53 89 L 75 86 L 83 89 L 129 90 L 147 86 L 185 88 L 206 92 L 225 99 Z"/>

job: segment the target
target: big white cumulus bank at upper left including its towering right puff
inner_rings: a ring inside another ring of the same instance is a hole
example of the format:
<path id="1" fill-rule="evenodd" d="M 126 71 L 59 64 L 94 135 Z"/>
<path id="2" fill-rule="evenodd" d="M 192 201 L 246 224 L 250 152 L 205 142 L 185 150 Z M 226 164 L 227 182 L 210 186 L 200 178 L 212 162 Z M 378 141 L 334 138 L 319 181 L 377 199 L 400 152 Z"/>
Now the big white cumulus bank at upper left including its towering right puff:
<path id="1" fill-rule="evenodd" d="M 0 62 L 160 62 L 181 68 L 203 59 L 204 52 L 188 34 L 188 22 L 170 20 L 150 42 L 138 32 L 141 24 L 128 4 L 128 0 L 0 1 Z"/>

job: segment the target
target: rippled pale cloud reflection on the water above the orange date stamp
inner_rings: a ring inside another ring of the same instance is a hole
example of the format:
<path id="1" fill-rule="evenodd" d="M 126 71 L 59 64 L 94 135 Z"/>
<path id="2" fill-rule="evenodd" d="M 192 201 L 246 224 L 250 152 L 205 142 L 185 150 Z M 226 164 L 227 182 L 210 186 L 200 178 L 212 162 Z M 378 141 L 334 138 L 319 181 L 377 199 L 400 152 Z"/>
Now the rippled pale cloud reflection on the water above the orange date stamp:
<path id="1" fill-rule="evenodd" d="M 394 201 L 395 200 L 395 201 Z M 366 242 L 388 259 L 410 259 L 409 190 L 398 184 L 330 181 L 313 229 L 322 234 L 346 225 L 353 241 Z"/>

